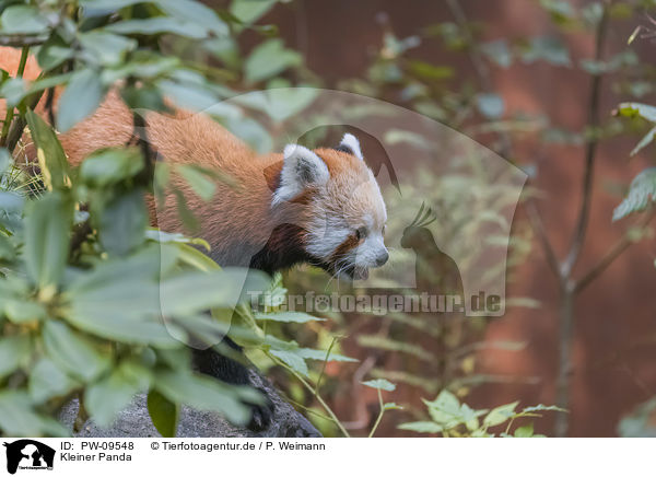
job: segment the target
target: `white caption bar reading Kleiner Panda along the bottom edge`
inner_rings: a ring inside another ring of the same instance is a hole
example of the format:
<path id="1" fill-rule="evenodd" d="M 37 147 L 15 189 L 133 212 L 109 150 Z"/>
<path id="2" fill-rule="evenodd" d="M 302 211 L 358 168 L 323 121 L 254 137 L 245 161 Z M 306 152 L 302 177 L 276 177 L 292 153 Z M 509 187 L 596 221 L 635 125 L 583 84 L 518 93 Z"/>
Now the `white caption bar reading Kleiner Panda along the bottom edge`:
<path id="1" fill-rule="evenodd" d="M 267 477 L 642 475 L 653 466 L 656 444 L 649 439 L 16 438 L 0 442 L 4 444 L 0 476 L 9 472 L 20 477 L 197 472 Z"/>

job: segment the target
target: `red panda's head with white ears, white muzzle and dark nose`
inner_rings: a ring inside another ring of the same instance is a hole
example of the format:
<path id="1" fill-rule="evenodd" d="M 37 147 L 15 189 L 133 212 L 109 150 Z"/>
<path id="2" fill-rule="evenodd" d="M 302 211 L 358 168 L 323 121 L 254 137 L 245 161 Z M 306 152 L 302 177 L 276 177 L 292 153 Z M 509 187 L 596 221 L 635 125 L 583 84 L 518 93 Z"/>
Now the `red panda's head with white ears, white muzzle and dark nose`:
<path id="1" fill-rule="evenodd" d="M 300 225 L 311 263 L 338 277 L 366 279 L 370 268 L 387 261 L 385 202 L 353 135 L 336 149 L 285 147 L 271 205 L 284 202 L 305 209 Z"/>

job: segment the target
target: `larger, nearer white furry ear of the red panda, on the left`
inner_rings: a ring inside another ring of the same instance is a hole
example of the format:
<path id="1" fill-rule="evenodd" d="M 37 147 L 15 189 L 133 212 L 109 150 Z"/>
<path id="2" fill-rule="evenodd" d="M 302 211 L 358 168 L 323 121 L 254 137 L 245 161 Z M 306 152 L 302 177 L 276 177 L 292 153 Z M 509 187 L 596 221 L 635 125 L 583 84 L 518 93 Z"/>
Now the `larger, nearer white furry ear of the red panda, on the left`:
<path id="1" fill-rule="evenodd" d="M 272 206 L 293 199 L 308 186 L 324 185 L 328 182 L 330 177 L 328 166 L 309 149 L 298 144 L 288 144 L 283 155 L 280 186 L 273 194 Z"/>

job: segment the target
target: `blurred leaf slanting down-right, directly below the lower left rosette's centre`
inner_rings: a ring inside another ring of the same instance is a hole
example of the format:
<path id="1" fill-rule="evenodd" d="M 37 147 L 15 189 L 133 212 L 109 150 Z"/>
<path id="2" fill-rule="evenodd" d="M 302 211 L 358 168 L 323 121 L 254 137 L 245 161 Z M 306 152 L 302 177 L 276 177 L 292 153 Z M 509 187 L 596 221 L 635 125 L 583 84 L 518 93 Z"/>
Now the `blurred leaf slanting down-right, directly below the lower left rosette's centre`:
<path id="1" fill-rule="evenodd" d="M 43 339 L 50 359 L 84 382 L 93 381 L 110 364 L 106 351 L 101 351 L 93 341 L 61 322 L 46 322 Z"/>

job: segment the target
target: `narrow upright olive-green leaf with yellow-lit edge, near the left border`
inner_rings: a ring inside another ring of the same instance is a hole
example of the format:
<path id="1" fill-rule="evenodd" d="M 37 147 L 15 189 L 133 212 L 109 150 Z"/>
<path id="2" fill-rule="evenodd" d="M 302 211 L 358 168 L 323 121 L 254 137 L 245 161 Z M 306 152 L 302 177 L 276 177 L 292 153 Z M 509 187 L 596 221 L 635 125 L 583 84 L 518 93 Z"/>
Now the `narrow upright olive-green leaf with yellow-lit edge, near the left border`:
<path id="1" fill-rule="evenodd" d="M 46 186 L 54 189 L 66 188 L 69 183 L 69 164 L 57 135 L 33 110 L 27 110 L 25 118 L 37 147 L 36 153 Z"/>

